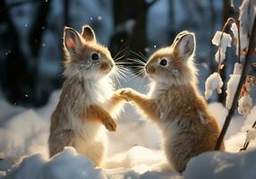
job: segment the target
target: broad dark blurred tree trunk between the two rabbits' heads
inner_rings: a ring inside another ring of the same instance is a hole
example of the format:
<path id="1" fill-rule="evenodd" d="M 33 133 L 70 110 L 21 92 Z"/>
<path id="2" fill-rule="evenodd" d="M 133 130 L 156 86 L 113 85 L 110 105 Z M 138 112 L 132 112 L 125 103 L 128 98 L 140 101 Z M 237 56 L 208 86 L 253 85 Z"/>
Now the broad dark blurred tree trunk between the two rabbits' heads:
<path id="1" fill-rule="evenodd" d="M 125 1 L 114 0 L 114 21 L 115 33 L 111 38 L 110 49 L 114 54 L 119 50 L 120 45 L 125 44 L 138 53 L 145 54 L 145 47 L 148 45 L 147 39 L 147 14 L 149 7 L 155 4 L 152 1 Z"/>

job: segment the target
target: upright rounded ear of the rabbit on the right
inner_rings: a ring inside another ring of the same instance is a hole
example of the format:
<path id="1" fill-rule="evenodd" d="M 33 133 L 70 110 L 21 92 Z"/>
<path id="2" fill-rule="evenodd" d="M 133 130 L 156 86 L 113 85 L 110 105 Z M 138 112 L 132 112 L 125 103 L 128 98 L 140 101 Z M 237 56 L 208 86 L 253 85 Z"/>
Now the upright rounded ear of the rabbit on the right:
<path id="1" fill-rule="evenodd" d="M 183 60 L 188 60 L 188 58 L 194 54 L 195 51 L 195 37 L 192 32 L 182 31 L 180 32 L 173 43 L 175 52 Z"/>

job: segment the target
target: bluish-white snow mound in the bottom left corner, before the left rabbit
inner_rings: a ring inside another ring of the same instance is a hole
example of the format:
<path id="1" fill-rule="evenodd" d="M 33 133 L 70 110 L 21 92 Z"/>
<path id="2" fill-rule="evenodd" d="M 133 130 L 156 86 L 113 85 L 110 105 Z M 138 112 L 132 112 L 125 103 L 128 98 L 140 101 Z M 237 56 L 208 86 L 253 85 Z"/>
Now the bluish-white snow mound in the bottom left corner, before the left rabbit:
<path id="1" fill-rule="evenodd" d="M 19 166 L 13 166 L 4 179 L 104 179 L 107 175 L 94 167 L 90 159 L 77 154 L 72 147 L 53 158 L 46 159 L 41 154 L 24 158 Z"/>

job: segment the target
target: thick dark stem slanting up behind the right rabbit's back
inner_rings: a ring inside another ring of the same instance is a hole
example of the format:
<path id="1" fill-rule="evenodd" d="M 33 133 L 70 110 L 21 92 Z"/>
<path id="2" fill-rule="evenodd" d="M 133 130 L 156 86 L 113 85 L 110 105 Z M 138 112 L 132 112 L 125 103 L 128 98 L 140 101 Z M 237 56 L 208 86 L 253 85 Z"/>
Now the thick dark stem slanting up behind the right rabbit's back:
<path id="1" fill-rule="evenodd" d="M 228 128 L 228 126 L 230 124 L 230 121 L 232 119 L 232 116 L 234 115 L 235 108 L 236 108 L 236 105 L 237 105 L 237 101 L 238 101 L 238 98 L 240 96 L 240 91 L 243 87 L 243 82 L 246 79 L 246 73 L 247 73 L 247 70 L 248 70 L 247 67 L 248 67 L 248 64 L 250 64 L 250 61 L 251 61 L 250 58 L 251 58 L 252 51 L 253 51 L 253 48 L 254 48 L 253 43 L 254 43 L 254 38 L 255 38 L 255 31 L 256 31 L 256 18 L 254 18 L 254 21 L 253 21 L 253 26 L 252 26 L 252 31 L 251 31 L 252 37 L 250 38 L 248 52 L 247 52 L 247 54 L 245 56 L 245 59 L 244 59 L 243 72 L 241 74 L 241 78 L 240 78 L 240 81 L 238 83 L 238 87 L 235 91 L 235 97 L 233 99 L 232 106 L 228 111 L 228 115 L 226 116 L 226 120 L 225 120 L 225 123 L 223 125 L 222 131 L 220 132 L 219 137 L 218 137 L 218 141 L 216 142 L 215 150 L 218 150 L 220 148 L 221 143 L 222 143 L 222 141 L 224 139 L 224 136 L 226 134 L 227 128 Z"/>

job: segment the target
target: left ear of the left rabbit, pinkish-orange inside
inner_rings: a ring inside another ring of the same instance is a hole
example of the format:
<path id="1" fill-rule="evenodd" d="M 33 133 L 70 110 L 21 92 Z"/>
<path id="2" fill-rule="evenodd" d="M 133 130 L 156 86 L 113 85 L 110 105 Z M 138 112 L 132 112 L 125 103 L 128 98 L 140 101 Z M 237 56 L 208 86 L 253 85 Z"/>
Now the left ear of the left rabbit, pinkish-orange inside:
<path id="1" fill-rule="evenodd" d="M 72 28 L 64 27 L 64 47 L 72 54 L 79 53 L 82 48 L 81 35 Z"/>

